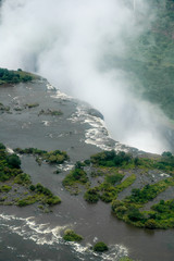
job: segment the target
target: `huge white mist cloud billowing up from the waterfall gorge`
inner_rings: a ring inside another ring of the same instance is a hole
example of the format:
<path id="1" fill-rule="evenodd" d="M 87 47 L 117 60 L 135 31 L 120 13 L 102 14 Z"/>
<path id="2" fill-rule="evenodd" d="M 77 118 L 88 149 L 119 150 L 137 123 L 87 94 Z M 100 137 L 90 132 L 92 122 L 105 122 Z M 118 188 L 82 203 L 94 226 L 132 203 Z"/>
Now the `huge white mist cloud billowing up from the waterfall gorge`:
<path id="1" fill-rule="evenodd" d="M 133 1 L 129 5 L 125 2 L 4 0 L 0 66 L 41 74 L 63 91 L 100 110 L 116 140 L 162 152 L 167 142 L 159 130 L 154 108 L 132 94 L 125 72 L 110 64 L 101 70 L 104 57 L 123 55 L 125 38 L 137 37 L 147 26 L 145 1 L 136 5 L 141 10 L 140 23 L 130 8 Z"/>

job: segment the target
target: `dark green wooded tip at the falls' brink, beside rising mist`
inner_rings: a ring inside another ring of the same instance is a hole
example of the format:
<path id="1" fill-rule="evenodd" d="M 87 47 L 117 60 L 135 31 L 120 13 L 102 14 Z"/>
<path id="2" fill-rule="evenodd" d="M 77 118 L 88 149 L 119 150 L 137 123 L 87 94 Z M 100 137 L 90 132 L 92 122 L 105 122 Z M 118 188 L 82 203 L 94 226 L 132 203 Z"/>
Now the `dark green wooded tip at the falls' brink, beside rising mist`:
<path id="1" fill-rule="evenodd" d="M 38 78 L 38 76 L 18 71 L 10 71 L 8 69 L 0 69 L 0 85 L 3 84 L 18 84 L 21 82 L 26 83 Z"/>

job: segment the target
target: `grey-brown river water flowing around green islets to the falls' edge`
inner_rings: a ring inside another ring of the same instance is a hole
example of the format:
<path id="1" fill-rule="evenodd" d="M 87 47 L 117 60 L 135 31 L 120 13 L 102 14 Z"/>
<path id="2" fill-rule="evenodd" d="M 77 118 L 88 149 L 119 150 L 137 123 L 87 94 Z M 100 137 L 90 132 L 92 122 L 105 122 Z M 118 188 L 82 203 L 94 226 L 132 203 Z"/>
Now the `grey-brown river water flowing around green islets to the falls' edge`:
<path id="1" fill-rule="evenodd" d="M 45 150 L 65 150 L 71 161 L 57 166 L 23 156 L 22 169 L 32 176 L 34 184 L 41 183 L 62 199 L 52 213 L 41 213 L 35 206 L 26 208 L 1 207 L 0 261 L 72 261 L 113 260 L 130 257 L 147 261 L 173 261 L 173 231 L 135 228 L 115 219 L 110 204 L 90 206 L 83 196 L 71 196 L 62 187 L 64 175 L 77 160 L 88 159 L 101 149 L 124 149 L 108 135 L 104 122 L 89 113 L 90 107 L 55 91 L 47 80 L 0 88 L 0 102 L 10 107 L 0 114 L 0 141 L 10 149 L 35 147 Z M 38 103 L 28 109 L 26 104 Z M 60 116 L 41 115 L 41 110 L 61 110 Z M 134 151 L 136 151 L 134 149 Z M 84 237 L 82 245 L 65 243 L 63 231 L 73 228 Z M 103 240 L 109 252 L 94 253 L 90 247 Z"/>

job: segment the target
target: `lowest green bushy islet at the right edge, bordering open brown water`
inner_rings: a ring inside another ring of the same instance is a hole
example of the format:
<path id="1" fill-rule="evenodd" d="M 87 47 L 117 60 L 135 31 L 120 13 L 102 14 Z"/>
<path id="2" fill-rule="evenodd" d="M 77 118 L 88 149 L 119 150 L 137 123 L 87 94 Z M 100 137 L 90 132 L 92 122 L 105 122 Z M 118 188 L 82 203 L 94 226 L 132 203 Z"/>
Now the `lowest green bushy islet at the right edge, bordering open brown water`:
<path id="1" fill-rule="evenodd" d="M 153 185 L 146 185 L 142 189 L 134 188 L 129 197 L 122 201 L 112 201 L 112 211 L 119 219 L 138 227 L 174 227 L 174 209 L 172 209 L 174 200 L 166 202 L 161 200 L 159 204 L 152 206 L 151 209 L 153 211 L 140 211 L 145 203 L 154 199 L 169 186 L 174 186 L 174 178 L 167 178 Z"/>

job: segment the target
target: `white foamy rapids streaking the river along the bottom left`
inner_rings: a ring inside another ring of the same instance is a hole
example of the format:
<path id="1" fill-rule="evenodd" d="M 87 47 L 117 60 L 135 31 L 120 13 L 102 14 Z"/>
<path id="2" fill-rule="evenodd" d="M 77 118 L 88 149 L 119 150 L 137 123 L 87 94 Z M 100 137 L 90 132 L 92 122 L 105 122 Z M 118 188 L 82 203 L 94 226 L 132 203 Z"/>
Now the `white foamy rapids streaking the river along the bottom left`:
<path id="1" fill-rule="evenodd" d="M 14 222 L 16 224 L 14 225 Z M 8 223 L 8 224 L 7 224 Z M 29 216 L 27 219 L 17 217 L 15 215 L 7 215 L 0 214 L 0 225 L 5 225 L 11 233 L 14 233 L 24 240 L 33 240 L 36 245 L 48 245 L 54 246 L 59 248 L 59 246 L 70 246 L 71 250 L 75 253 L 79 260 L 91 260 L 91 261 L 119 261 L 121 257 L 125 257 L 128 254 L 127 248 L 122 245 L 112 245 L 109 246 L 109 251 L 105 253 L 97 253 L 92 250 L 91 244 L 86 244 L 85 246 L 78 243 L 65 241 L 62 238 L 62 233 L 67 227 L 72 227 L 72 224 L 64 226 L 54 226 L 51 227 L 50 223 L 39 224 L 36 222 L 34 216 Z M 97 240 L 97 237 L 94 241 Z M 8 246 L 9 249 L 15 250 L 14 247 Z M 23 254 L 18 256 L 22 257 Z"/>

